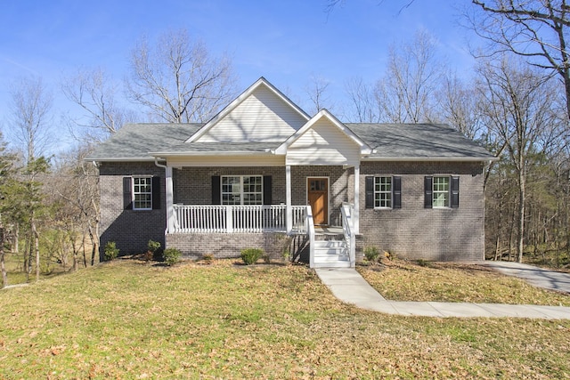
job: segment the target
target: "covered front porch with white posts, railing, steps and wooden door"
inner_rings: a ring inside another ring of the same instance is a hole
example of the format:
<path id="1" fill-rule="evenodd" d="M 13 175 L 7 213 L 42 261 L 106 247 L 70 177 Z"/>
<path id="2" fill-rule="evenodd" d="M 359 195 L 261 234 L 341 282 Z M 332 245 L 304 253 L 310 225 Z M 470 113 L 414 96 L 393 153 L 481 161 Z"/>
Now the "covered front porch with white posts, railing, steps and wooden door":
<path id="1" fill-rule="evenodd" d="M 177 247 L 184 255 L 195 258 L 207 253 L 235 257 L 243 247 L 263 247 L 267 253 L 281 256 L 280 252 L 290 249 L 283 246 L 284 242 L 294 240 L 297 243 L 291 244 L 297 246 L 293 250 L 305 247 L 312 267 L 354 266 L 354 237 L 358 231 L 357 167 L 166 166 L 165 169 L 167 247 Z M 212 204 L 227 201 L 222 191 L 224 179 L 243 173 L 263 178 L 262 204 Z M 311 196 L 314 178 L 327 183 L 320 200 Z M 218 189 L 222 197 L 218 197 Z M 272 204 L 264 204 L 268 198 Z M 189 201 L 195 204 L 188 204 Z M 321 221 L 316 226 L 315 211 Z M 333 230 L 337 233 L 332 234 Z"/>

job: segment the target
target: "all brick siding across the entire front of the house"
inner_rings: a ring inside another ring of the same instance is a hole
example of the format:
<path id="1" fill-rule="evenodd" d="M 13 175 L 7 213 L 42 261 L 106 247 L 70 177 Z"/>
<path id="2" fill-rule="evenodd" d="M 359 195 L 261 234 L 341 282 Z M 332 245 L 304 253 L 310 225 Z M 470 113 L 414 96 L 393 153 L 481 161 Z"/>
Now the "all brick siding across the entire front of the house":
<path id="1" fill-rule="evenodd" d="M 169 234 L 166 228 L 165 171 L 154 163 L 102 163 L 101 244 L 115 241 L 121 255 L 142 253 L 149 239 L 162 247 L 177 247 L 184 257 L 237 257 L 244 247 L 262 247 L 280 256 L 282 234 Z M 160 209 L 123 209 L 124 176 L 154 175 L 161 178 Z M 285 203 L 285 168 L 183 167 L 173 170 L 174 201 L 187 205 L 211 204 L 212 175 L 272 175 L 273 204 Z M 400 175 L 402 208 L 366 209 L 367 175 Z M 424 208 L 426 175 L 459 175 L 460 206 L 454 209 Z M 342 166 L 292 166 L 292 204 L 306 204 L 306 178 L 328 177 L 330 224 L 340 225 L 342 202 L 354 202 L 354 169 Z M 484 257 L 484 194 L 481 163 L 363 162 L 360 176 L 360 232 L 362 247 L 376 246 L 400 257 L 440 261 L 482 260 Z"/>

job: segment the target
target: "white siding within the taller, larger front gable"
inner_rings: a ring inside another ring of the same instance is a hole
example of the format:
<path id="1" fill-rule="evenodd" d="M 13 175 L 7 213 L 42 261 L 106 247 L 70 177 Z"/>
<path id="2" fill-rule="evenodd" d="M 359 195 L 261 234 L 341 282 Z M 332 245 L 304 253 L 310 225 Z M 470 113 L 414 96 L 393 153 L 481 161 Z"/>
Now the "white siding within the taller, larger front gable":
<path id="1" fill-rule="evenodd" d="M 305 123 L 297 110 L 260 85 L 198 141 L 284 141 Z"/>

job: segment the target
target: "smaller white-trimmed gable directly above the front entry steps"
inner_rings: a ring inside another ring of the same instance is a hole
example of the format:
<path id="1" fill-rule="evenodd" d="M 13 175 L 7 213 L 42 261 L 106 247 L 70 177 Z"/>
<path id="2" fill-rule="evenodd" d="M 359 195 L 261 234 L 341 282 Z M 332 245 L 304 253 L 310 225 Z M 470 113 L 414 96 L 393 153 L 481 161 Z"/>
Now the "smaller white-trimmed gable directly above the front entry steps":
<path id="1" fill-rule="evenodd" d="M 326 109 L 320 111 L 277 150 L 287 165 L 349 165 L 370 149 Z"/>

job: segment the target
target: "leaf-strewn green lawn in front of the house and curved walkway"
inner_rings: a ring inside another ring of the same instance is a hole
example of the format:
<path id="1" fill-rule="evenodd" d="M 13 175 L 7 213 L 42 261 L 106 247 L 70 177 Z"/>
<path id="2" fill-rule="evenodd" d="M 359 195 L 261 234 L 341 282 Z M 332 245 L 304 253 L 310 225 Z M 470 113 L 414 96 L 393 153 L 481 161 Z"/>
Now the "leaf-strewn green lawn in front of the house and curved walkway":
<path id="1" fill-rule="evenodd" d="M 0 291 L 0 378 L 569 378 L 570 321 L 395 317 L 303 266 L 131 260 Z"/>

